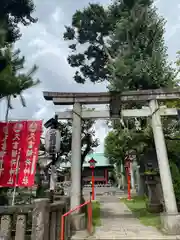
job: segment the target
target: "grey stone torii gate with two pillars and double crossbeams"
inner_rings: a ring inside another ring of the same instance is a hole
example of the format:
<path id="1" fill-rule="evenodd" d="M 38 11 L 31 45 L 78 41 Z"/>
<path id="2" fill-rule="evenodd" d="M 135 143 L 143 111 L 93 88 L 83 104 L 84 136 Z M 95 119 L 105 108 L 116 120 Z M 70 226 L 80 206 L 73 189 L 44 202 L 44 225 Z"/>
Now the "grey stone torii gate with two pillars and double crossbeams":
<path id="1" fill-rule="evenodd" d="M 43 92 L 45 100 L 53 101 L 55 105 L 73 105 L 72 111 L 58 112 L 59 119 L 72 119 L 72 159 L 71 159 L 71 208 L 80 204 L 80 176 L 81 176 L 81 119 L 109 119 L 120 118 L 120 104 L 127 102 L 146 102 L 149 104 L 142 109 L 122 110 L 123 117 L 151 117 L 155 148 L 159 164 L 165 208 L 168 214 L 177 215 L 177 205 L 173 190 L 167 149 L 161 124 L 161 116 L 175 116 L 177 110 L 159 106 L 158 101 L 176 100 L 180 98 L 180 90 L 145 90 L 118 93 L 65 93 Z M 83 110 L 82 105 L 110 104 L 109 110 Z M 175 223 L 174 223 L 175 224 Z M 172 225 L 172 220 L 171 220 Z M 177 225 L 177 224 L 176 224 Z M 173 225 L 174 226 L 174 225 Z M 172 227 L 173 227 L 172 226 Z"/>

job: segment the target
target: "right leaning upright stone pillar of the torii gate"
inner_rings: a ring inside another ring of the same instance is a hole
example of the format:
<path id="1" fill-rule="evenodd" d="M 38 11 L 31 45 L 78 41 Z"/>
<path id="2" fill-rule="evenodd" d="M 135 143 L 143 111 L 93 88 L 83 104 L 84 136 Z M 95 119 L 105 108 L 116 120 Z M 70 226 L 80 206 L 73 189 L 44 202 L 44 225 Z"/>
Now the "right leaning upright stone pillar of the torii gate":
<path id="1" fill-rule="evenodd" d="M 159 171 L 165 201 L 166 212 L 168 214 L 177 214 L 176 199 L 172 184 L 171 172 L 169 167 L 167 149 L 161 124 L 161 117 L 158 109 L 157 100 L 150 101 L 152 111 L 152 129 L 154 134 L 154 142 L 156 147 Z"/>

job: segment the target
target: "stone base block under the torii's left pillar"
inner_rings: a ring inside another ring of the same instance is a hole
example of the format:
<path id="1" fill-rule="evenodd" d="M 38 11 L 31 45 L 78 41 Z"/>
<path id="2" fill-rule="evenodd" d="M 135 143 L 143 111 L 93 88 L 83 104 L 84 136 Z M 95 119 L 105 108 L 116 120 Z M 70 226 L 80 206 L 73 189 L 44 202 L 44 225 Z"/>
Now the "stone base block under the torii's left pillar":
<path id="1" fill-rule="evenodd" d="M 73 231 L 81 231 L 86 229 L 85 213 L 73 214 L 71 216 L 71 224 L 72 224 Z"/>

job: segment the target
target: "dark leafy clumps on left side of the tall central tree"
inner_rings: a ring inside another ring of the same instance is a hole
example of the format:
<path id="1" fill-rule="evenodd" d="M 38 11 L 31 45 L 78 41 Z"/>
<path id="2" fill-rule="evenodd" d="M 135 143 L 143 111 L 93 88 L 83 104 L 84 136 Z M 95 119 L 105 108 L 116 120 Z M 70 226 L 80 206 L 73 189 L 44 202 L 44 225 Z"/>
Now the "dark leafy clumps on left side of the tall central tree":
<path id="1" fill-rule="evenodd" d="M 107 12 L 99 4 L 89 4 L 89 7 L 73 15 L 72 26 L 66 26 L 64 39 L 74 40 L 69 46 L 73 54 L 68 57 L 68 62 L 72 67 L 80 68 L 74 76 L 76 82 L 84 83 L 86 78 L 92 82 L 106 79 L 107 55 L 103 50 L 103 38 L 109 35 L 110 30 L 112 27 Z M 78 51 L 79 45 L 87 46 L 82 53 Z"/>

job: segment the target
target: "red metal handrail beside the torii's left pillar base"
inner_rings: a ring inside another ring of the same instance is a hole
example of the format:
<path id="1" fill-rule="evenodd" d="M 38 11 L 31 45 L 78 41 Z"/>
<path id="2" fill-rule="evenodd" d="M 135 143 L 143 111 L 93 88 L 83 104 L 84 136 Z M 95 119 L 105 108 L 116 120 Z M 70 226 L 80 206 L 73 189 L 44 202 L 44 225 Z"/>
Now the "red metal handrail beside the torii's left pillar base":
<path id="1" fill-rule="evenodd" d="M 61 216 L 61 233 L 60 233 L 60 240 L 64 240 L 64 223 L 65 223 L 65 217 L 67 217 L 68 215 L 70 215 L 72 212 L 75 212 L 77 210 L 79 210 L 80 208 L 87 206 L 87 230 L 88 232 L 91 234 L 93 231 L 92 228 L 92 202 L 91 200 L 86 201 L 85 203 L 77 206 L 74 209 L 69 210 L 68 212 L 64 213 Z"/>

